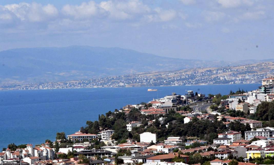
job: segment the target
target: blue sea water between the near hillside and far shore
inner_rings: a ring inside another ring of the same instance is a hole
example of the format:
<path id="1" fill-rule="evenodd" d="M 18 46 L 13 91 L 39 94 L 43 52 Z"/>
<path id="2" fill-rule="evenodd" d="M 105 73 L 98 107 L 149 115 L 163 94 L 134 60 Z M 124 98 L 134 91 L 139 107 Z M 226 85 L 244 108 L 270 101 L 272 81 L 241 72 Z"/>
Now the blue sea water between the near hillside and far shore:
<path id="1" fill-rule="evenodd" d="M 202 94 L 229 94 L 230 90 L 257 89 L 260 84 L 83 88 L 0 91 L 0 150 L 10 143 L 41 144 L 55 140 L 56 132 L 71 134 L 85 126 L 87 120 L 98 120 L 98 114 L 114 111 L 126 104 L 148 102 L 172 92 L 184 95 L 186 90 Z"/>

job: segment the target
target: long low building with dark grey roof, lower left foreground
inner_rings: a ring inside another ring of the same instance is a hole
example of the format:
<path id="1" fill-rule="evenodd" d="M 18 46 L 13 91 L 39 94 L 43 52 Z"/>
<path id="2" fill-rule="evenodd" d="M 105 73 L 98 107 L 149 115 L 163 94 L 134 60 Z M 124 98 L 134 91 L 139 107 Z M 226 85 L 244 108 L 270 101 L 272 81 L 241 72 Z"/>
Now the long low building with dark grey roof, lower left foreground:
<path id="1" fill-rule="evenodd" d="M 99 158 L 102 157 L 111 157 L 111 151 L 107 151 L 104 149 L 89 149 L 89 150 L 83 150 L 81 152 L 74 153 L 75 157 L 78 157 L 80 154 L 85 155 L 87 158 L 95 158 L 97 155 Z"/>

